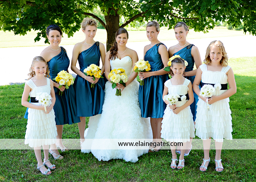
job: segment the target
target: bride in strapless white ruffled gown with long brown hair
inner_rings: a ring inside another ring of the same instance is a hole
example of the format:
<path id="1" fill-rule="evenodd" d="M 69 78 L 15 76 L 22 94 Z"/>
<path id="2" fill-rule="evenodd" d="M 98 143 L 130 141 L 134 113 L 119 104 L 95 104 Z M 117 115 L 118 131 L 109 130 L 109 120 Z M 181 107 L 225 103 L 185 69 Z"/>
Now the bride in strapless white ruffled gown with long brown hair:
<path id="1" fill-rule="evenodd" d="M 139 83 L 136 81 L 136 72 L 132 72 L 138 61 L 136 51 L 126 47 L 128 32 L 119 28 L 116 32 L 116 41 L 105 58 L 105 75 L 108 79 L 110 68 L 123 68 L 129 76 L 126 87 L 118 84 L 112 89 L 112 83 L 105 85 L 105 99 L 102 114 L 90 117 L 88 128 L 84 133 L 85 139 L 149 139 L 153 138 L 151 126 L 147 118 L 141 118 L 138 101 Z M 116 96 L 116 89 L 120 89 L 122 95 Z M 109 140 L 111 141 L 111 140 Z M 148 152 L 145 150 L 120 150 L 113 149 L 109 143 L 108 150 L 98 150 L 98 142 L 83 142 L 82 152 L 93 153 L 99 160 L 124 159 L 137 162 L 138 157 Z M 91 147 L 91 150 L 90 150 Z M 88 150 L 89 149 L 89 150 Z"/>

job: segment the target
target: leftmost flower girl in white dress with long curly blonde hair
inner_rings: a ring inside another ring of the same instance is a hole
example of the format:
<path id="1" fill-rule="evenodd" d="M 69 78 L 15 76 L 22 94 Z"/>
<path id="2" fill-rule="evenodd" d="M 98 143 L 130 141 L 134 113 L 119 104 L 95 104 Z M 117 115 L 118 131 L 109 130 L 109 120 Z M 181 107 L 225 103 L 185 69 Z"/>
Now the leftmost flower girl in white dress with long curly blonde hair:
<path id="1" fill-rule="evenodd" d="M 51 174 L 50 169 L 56 169 L 48 160 L 49 145 L 54 145 L 56 142 L 57 128 L 55 125 L 55 116 L 53 106 L 55 103 L 55 95 L 53 83 L 49 77 L 49 69 L 44 58 L 38 56 L 33 59 L 30 67 L 29 79 L 25 83 L 22 94 L 21 104 L 28 107 L 29 115 L 27 120 L 27 130 L 25 135 L 25 144 L 34 147 L 35 157 L 37 158 L 37 169 L 44 175 Z M 42 92 L 40 94 L 40 92 Z M 45 93 L 46 92 L 46 93 Z M 47 107 L 39 103 L 39 96 L 45 94 L 51 96 Z M 48 95 L 49 94 L 49 95 Z M 27 101 L 30 95 L 31 103 Z M 41 157 L 41 146 L 44 149 L 44 162 Z M 48 169 L 46 169 L 46 167 Z"/>

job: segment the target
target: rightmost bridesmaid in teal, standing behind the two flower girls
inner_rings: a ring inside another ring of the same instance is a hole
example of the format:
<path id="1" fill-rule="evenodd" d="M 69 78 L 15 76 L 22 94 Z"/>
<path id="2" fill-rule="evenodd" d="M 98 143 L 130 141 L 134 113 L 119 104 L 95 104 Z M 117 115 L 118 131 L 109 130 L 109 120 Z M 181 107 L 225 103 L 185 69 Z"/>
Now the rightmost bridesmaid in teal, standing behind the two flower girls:
<path id="1" fill-rule="evenodd" d="M 169 57 L 174 55 L 180 55 L 180 57 L 188 62 L 188 66 L 185 69 L 185 78 L 191 81 L 195 79 L 196 69 L 193 70 L 194 64 L 196 64 L 196 68 L 198 68 L 202 64 L 202 60 L 200 57 L 200 53 L 198 48 L 190 44 L 186 40 L 186 36 L 188 35 L 189 27 L 184 22 L 180 21 L 174 26 L 175 37 L 178 40 L 178 44 L 169 48 Z M 199 86 L 200 87 L 200 86 Z M 198 101 L 198 96 L 193 91 L 194 94 L 194 102 L 190 105 L 191 112 L 193 114 L 193 120 L 195 122 L 196 119 L 196 104 Z M 190 142 L 187 142 L 187 150 L 185 151 L 184 156 L 187 156 L 192 149 L 191 145 L 192 139 Z"/>

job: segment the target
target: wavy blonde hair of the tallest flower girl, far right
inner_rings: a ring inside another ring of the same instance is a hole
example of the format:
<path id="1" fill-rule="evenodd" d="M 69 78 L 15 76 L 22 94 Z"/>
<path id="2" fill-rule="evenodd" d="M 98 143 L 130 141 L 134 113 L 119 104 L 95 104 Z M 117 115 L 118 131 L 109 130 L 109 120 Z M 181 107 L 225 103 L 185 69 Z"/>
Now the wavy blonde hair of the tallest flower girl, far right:
<path id="1" fill-rule="evenodd" d="M 205 55 L 205 59 L 204 59 L 204 63 L 205 64 L 210 64 L 211 63 L 211 59 L 210 59 L 210 51 L 211 51 L 211 47 L 219 47 L 221 49 L 221 65 L 222 66 L 227 66 L 227 53 L 225 51 L 224 45 L 221 41 L 219 40 L 214 40 L 212 41 L 209 46 L 206 49 L 206 55 Z"/>

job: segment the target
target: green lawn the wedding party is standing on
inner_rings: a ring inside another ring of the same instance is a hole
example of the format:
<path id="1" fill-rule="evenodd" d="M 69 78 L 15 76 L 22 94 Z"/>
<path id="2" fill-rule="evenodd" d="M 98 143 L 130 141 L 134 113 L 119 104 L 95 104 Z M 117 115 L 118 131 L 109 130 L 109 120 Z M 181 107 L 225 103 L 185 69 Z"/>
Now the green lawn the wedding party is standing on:
<path id="1" fill-rule="evenodd" d="M 256 138 L 256 57 L 229 60 L 237 93 L 230 97 L 233 138 Z M 0 138 L 24 138 L 27 120 L 23 118 L 26 108 L 21 106 L 23 85 L 0 86 Z M 88 118 L 87 118 L 88 122 Z M 87 127 L 87 126 L 86 126 Z M 63 138 L 79 138 L 77 124 L 65 125 Z M 43 176 L 35 169 L 37 161 L 33 150 L 1 150 L 0 181 L 255 181 L 256 153 L 254 150 L 223 150 L 224 171 L 217 173 L 212 160 L 206 173 L 199 171 L 203 150 L 192 150 L 185 157 L 184 170 L 170 169 L 171 152 L 162 150 L 139 157 L 136 163 L 123 160 L 98 161 L 93 154 L 80 150 L 61 153 L 63 160 L 50 160 L 57 169 Z M 215 151 L 210 151 L 214 159 Z"/>

